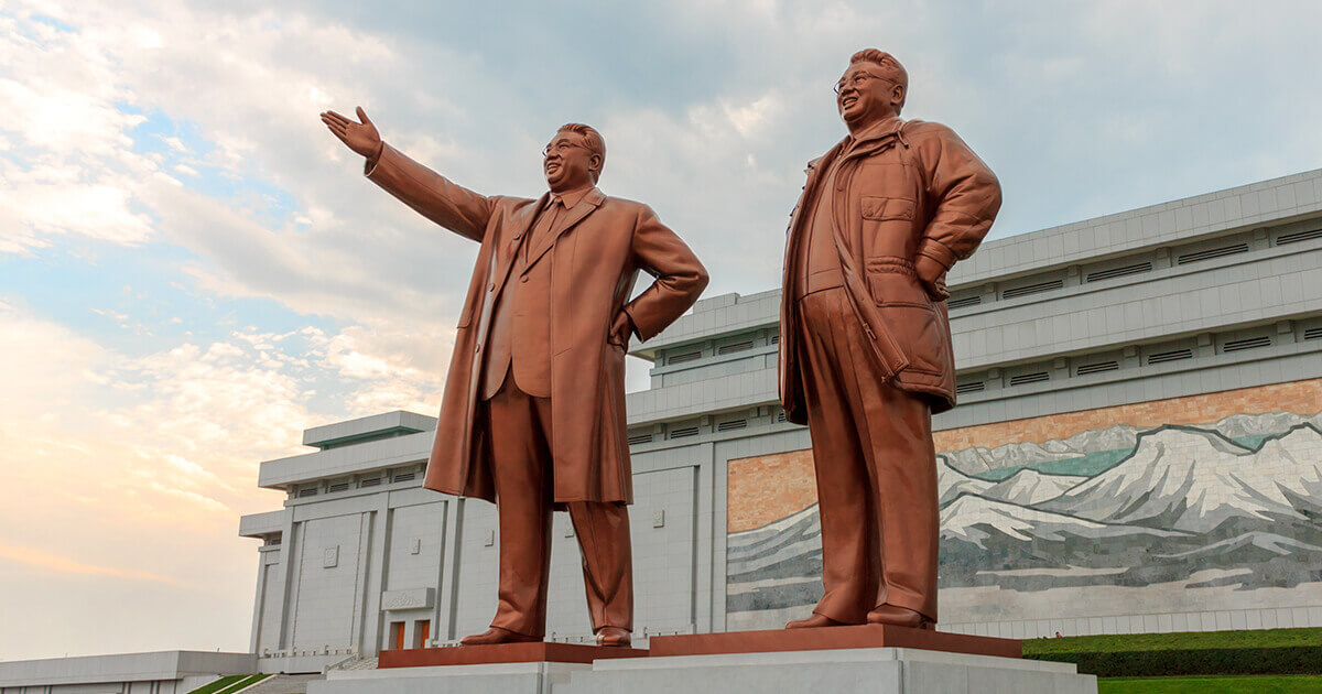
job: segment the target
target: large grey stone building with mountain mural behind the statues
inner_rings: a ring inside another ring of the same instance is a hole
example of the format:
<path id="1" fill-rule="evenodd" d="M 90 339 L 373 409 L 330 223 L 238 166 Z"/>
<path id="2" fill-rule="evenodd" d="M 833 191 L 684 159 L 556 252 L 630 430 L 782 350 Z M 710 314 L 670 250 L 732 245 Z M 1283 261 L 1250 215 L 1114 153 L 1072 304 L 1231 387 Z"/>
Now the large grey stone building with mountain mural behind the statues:
<path id="1" fill-rule="evenodd" d="M 779 241 L 779 239 L 777 239 Z M 1036 637 L 1322 625 L 1322 171 L 986 243 L 949 278 L 960 405 L 933 420 L 940 627 Z M 635 349 L 640 636 L 777 628 L 821 594 L 780 292 Z M 308 430 L 262 464 L 263 669 L 485 629 L 494 506 L 420 488 L 435 420 Z M 549 632 L 590 635 L 557 516 Z"/>

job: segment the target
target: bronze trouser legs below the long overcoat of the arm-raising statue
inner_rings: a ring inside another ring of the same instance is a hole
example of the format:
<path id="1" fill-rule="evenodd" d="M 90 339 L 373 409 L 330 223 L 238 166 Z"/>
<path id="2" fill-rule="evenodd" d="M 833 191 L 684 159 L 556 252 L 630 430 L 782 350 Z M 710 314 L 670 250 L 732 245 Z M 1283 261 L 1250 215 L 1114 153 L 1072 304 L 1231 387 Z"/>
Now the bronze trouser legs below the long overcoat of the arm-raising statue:
<path id="1" fill-rule="evenodd" d="M 492 627 L 525 636 L 546 635 L 546 587 L 551 568 L 551 399 L 518 390 L 506 373 L 486 401 L 496 513 L 500 523 L 500 604 Z M 566 504 L 583 558 L 592 631 L 633 631 L 633 559 L 629 509 L 624 504 Z"/>

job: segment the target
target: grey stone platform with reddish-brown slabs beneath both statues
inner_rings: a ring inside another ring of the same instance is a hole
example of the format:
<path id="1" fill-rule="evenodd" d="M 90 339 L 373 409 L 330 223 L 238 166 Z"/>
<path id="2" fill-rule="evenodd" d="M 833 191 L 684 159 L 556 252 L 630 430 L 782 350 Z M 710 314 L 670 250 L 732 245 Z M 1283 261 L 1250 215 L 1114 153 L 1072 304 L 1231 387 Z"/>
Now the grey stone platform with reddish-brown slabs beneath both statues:
<path id="1" fill-rule="evenodd" d="M 308 694 L 1096 694 L 1072 664 L 1007 638 L 866 625 L 650 640 L 641 649 L 506 644 L 395 650 Z"/>

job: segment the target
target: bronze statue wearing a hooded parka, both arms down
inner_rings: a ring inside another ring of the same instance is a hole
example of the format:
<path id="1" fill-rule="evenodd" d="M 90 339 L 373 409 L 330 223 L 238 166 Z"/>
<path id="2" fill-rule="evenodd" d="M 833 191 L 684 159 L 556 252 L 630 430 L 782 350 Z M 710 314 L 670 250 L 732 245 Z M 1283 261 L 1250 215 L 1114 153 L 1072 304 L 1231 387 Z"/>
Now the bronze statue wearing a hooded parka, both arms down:
<path id="1" fill-rule="evenodd" d="M 808 165 L 785 242 L 780 399 L 812 432 L 825 595 L 787 628 L 935 628 L 932 412 L 954 406 L 945 272 L 1001 208 L 945 126 L 900 120 L 908 74 L 875 49 L 836 85 L 849 135 Z"/>

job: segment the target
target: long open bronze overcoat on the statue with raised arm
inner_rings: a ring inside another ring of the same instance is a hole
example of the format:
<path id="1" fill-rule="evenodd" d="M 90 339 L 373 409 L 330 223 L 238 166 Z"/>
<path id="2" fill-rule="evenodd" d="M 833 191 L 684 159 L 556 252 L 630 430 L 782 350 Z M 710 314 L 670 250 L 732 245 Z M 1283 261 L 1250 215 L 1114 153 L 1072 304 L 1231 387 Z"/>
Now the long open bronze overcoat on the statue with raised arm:
<path id="1" fill-rule="evenodd" d="M 546 243 L 514 252 L 541 200 L 486 197 L 382 148 L 368 177 L 428 219 L 481 243 L 459 316 L 436 439 L 423 486 L 496 500 L 488 432 L 477 416 L 492 305 L 508 282 L 543 278 L 550 296 L 551 456 L 554 500 L 633 501 L 624 411 L 624 349 L 607 341 L 615 316 L 629 315 L 641 340 L 678 319 L 707 286 L 707 271 L 650 208 L 592 189 Z M 542 262 L 551 260 L 549 272 Z M 656 282 L 629 301 L 639 270 Z M 516 337 L 517 340 L 517 337 Z"/>

